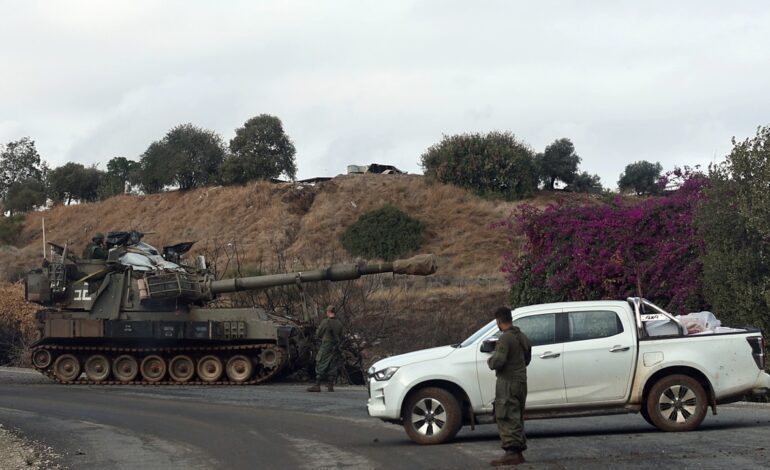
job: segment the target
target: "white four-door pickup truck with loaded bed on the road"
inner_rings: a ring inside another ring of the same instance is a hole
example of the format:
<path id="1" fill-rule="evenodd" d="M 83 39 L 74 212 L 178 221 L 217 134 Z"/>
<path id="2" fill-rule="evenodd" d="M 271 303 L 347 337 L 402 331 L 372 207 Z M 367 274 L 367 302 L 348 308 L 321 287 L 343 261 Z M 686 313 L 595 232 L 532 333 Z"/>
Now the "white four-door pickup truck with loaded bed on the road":
<path id="1" fill-rule="evenodd" d="M 688 335 L 645 299 L 532 305 L 514 310 L 513 323 L 532 343 L 526 419 L 640 413 L 663 431 L 688 431 L 708 407 L 716 414 L 718 404 L 770 390 L 759 330 Z M 369 415 L 403 424 L 419 444 L 493 422 L 487 358 L 499 334 L 492 321 L 462 343 L 378 361 Z"/>

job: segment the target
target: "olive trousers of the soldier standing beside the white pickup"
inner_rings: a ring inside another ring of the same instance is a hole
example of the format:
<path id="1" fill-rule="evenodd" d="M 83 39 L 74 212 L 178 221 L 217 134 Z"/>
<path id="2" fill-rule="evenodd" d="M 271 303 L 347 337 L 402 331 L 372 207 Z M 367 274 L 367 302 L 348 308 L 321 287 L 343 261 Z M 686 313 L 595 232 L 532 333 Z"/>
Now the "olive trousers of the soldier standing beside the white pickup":
<path id="1" fill-rule="evenodd" d="M 527 382 L 498 377 L 495 384 L 495 420 L 500 433 L 501 447 L 513 452 L 527 448 L 524 434 L 524 405 L 527 401 Z"/>

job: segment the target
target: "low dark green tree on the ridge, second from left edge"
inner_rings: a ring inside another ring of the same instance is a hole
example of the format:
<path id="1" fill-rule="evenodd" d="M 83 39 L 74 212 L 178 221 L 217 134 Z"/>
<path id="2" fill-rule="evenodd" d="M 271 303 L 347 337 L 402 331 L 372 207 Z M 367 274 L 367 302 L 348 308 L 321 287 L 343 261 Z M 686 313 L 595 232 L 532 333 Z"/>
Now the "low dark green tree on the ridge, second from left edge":
<path id="1" fill-rule="evenodd" d="M 69 162 L 48 173 L 51 199 L 70 204 L 73 200 L 92 202 L 99 198 L 99 186 L 104 173 L 94 167 Z"/>

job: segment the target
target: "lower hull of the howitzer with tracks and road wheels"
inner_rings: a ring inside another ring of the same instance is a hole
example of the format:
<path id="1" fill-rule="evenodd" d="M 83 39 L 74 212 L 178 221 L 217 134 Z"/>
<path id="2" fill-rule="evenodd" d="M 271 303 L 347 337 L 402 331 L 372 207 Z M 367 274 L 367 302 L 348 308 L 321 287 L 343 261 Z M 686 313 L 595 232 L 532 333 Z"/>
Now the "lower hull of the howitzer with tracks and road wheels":
<path id="1" fill-rule="evenodd" d="M 43 312 L 34 367 L 60 383 L 244 385 L 297 360 L 296 334 L 258 309 L 195 308 L 94 319 Z"/>

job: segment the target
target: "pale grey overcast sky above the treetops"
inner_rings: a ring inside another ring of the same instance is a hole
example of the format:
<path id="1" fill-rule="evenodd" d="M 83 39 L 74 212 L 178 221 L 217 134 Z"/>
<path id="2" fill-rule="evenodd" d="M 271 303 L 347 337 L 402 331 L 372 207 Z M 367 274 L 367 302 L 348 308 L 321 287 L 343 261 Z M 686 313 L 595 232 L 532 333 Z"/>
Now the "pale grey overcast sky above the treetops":
<path id="1" fill-rule="evenodd" d="M 137 159 L 191 122 L 281 118 L 298 177 L 420 173 L 443 134 L 572 139 L 607 187 L 719 162 L 770 124 L 770 4 L 0 0 L 0 143 Z"/>

